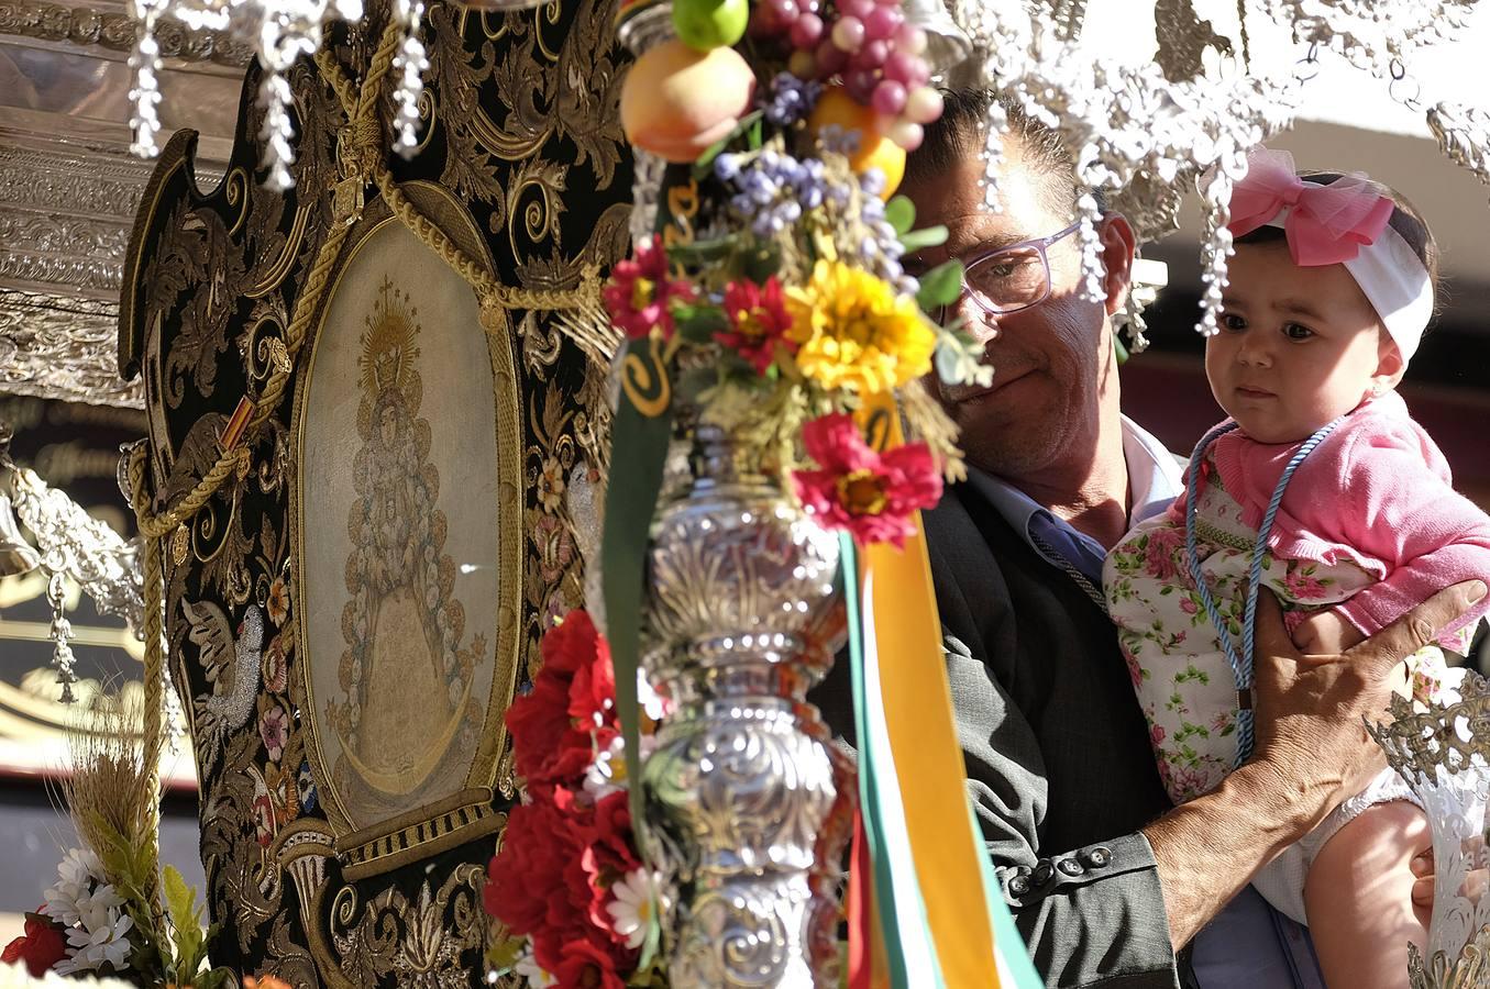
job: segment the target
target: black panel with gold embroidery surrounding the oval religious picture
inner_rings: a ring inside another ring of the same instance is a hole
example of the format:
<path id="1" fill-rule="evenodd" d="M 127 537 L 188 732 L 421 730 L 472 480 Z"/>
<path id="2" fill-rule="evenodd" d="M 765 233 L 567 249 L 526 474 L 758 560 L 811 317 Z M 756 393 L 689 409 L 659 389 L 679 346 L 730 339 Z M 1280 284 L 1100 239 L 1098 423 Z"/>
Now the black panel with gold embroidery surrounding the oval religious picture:
<path id="1" fill-rule="evenodd" d="M 428 10 L 423 143 L 387 167 L 501 284 L 563 295 L 626 250 L 612 18 L 578 0 Z M 374 7 L 329 39 L 353 83 L 378 36 Z M 322 258 L 352 128 L 314 64 L 291 83 L 295 188 L 258 182 L 250 70 L 216 189 L 197 188 L 189 133 L 162 153 L 121 305 L 155 509 L 291 369 L 164 548 L 215 961 L 297 986 L 475 986 L 483 867 L 516 797 L 502 715 L 539 635 L 583 603 L 605 369 L 560 329 L 572 314 L 483 311 L 372 185 Z"/>

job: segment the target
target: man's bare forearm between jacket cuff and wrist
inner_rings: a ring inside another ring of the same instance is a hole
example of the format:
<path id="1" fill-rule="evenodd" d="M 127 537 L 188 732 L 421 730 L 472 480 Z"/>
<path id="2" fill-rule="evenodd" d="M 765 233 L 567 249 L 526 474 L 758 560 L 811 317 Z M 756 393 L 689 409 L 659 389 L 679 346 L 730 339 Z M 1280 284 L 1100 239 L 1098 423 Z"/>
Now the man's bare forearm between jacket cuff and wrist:
<path id="1" fill-rule="evenodd" d="M 1308 833 L 1319 803 L 1316 794 L 1286 800 L 1277 773 L 1249 763 L 1143 830 L 1153 846 L 1176 949 L 1210 923 L 1258 868 Z"/>

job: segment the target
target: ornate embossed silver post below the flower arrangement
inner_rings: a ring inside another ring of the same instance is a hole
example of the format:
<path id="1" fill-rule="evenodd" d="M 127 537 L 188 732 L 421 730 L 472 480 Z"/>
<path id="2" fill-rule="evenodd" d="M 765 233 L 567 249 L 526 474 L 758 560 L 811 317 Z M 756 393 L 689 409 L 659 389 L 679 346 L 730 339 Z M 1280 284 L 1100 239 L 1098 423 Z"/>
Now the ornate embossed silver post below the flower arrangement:
<path id="1" fill-rule="evenodd" d="M 839 985 L 852 767 L 803 697 L 842 630 L 837 539 L 693 432 L 659 506 L 644 667 L 673 703 L 642 767 L 650 852 L 676 891 L 670 985 Z"/>

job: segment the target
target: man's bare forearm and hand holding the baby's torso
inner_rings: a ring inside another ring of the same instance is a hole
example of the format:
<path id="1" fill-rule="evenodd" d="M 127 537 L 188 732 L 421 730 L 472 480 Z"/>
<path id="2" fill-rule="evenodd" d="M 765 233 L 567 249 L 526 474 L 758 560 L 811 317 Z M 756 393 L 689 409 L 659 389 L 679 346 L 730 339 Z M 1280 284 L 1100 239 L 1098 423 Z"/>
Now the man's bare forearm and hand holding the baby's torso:
<path id="1" fill-rule="evenodd" d="M 1211 792 L 1143 830 L 1153 846 L 1170 940 L 1180 947 L 1386 760 L 1362 725 L 1380 718 L 1404 657 L 1486 594 L 1480 581 L 1427 599 L 1340 655 L 1304 655 L 1271 594 L 1258 602 L 1256 752 Z"/>

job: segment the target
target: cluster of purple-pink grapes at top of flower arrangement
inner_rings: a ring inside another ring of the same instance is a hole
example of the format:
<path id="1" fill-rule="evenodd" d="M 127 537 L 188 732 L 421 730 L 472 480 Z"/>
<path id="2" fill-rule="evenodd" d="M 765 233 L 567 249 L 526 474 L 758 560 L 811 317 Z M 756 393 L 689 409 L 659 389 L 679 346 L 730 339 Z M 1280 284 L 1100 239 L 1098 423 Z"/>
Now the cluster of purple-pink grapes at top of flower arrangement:
<path id="1" fill-rule="evenodd" d="M 901 0 L 760 0 L 751 34 L 790 45 L 787 69 L 799 79 L 839 79 L 885 122 L 884 134 L 906 150 L 942 115 L 942 95 L 927 85 L 925 31 L 907 24 Z"/>

